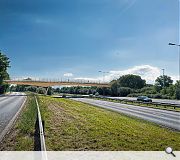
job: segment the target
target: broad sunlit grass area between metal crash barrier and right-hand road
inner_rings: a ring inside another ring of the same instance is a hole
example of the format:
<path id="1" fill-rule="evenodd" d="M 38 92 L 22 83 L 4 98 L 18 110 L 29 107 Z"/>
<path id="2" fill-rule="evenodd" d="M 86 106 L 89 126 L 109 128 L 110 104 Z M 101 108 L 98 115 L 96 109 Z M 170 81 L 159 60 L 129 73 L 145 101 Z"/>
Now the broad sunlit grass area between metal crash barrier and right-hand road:
<path id="1" fill-rule="evenodd" d="M 39 97 L 48 150 L 180 150 L 180 133 L 70 99 Z"/>

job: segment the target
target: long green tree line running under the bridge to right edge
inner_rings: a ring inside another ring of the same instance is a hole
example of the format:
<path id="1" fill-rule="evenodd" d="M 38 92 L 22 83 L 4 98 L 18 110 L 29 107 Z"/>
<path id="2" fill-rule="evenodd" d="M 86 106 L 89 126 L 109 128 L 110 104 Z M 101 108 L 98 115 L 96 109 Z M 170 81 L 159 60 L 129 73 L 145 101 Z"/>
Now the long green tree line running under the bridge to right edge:
<path id="1" fill-rule="evenodd" d="M 120 97 L 137 97 L 146 95 L 151 98 L 180 99 L 180 81 L 173 84 L 171 77 L 164 75 L 155 80 L 155 84 L 146 84 L 138 75 L 123 75 L 117 80 L 110 82 L 109 88 L 101 87 L 61 87 L 42 88 L 34 86 L 11 86 L 11 91 L 31 91 L 39 94 L 80 94 L 80 95 L 104 95 Z"/>

